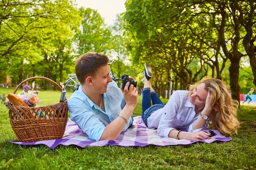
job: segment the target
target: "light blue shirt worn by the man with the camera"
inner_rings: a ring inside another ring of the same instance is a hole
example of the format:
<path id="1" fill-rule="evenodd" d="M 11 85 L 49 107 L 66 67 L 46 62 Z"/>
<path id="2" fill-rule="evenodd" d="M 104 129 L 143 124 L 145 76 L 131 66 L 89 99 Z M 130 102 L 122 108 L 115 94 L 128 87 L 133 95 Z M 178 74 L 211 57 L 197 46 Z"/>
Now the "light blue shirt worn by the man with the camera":
<path id="1" fill-rule="evenodd" d="M 70 119 L 93 141 L 99 141 L 105 127 L 125 106 L 124 95 L 115 81 L 108 84 L 107 92 L 103 93 L 103 97 L 105 112 L 83 93 L 81 86 L 67 100 Z M 123 131 L 132 124 L 132 120 L 131 115 Z"/>

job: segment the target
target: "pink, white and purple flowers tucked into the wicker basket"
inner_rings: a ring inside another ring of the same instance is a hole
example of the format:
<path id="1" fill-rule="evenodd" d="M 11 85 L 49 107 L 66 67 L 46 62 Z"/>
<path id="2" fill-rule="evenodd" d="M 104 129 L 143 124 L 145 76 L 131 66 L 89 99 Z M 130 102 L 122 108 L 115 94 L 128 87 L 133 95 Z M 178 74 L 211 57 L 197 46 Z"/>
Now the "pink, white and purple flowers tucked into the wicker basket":
<path id="1" fill-rule="evenodd" d="M 22 99 L 22 101 L 27 104 L 29 107 L 34 107 L 36 106 L 37 103 L 40 102 L 40 99 L 38 99 L 37 95 L 39 94 L 39 91 L 31 91 L 31 88 L 28 85 L 25 85 L 23 87 L 23 91 L 18 93 L 17 96 L 20 97 L 20 99 Z M 2 99 L 2 104 L 5 104 L 5 106 L 7 108 L 8 104 L 11 103 L 9 101 L 9 99 L 4 96 L 1 95 L 1 99 Z"/>

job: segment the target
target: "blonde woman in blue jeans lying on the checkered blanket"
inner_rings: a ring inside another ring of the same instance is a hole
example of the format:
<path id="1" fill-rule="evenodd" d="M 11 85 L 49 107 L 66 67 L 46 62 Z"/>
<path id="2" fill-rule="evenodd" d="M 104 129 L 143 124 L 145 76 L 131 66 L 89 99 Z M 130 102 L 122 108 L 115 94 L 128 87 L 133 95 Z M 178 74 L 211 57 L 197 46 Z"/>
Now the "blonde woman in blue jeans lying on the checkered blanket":
<path id="1" fill-rule="evenodd" d="M 144 67 L 141 117 L 148 128 L 157 128 L 159 136 L 192 141 L 209 139 L 211 135 L 201 130 L 207 129 L 210 122 L 223 135 L 237 133 L 238 102 L 231 99 L 224 82 L 203 79 L 198 86 L 190 85 L 189 91 L 175 91 L 163 104 L 149 82 L 152 68 L 149 64 Z"/>

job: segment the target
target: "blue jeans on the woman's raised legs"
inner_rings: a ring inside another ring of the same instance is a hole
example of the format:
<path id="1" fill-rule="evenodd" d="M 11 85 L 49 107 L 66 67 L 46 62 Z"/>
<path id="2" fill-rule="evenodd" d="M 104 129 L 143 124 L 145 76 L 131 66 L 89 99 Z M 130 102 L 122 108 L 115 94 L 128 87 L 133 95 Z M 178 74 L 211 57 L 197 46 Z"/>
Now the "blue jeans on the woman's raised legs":
<path id="1" fill-rule="evenodd" d="M 151 106 L 152 100 L 152 106 Z M 150 92 L 150 88 L 143 88 L 142 91 L 142 113 L 141 118 L 146 126 L 148 126 L 148 117 L 159 108 L 163 108 L 165 104 L 160 100 L 155 91 Z"/>

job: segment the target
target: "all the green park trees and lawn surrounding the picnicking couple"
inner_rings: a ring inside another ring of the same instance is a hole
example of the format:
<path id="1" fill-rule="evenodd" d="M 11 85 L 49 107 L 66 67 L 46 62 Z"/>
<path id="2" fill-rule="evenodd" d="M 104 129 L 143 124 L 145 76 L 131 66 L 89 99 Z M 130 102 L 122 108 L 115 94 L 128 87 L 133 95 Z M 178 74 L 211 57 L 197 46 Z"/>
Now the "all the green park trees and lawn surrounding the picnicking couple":
<path id="1" fill-rule="evenodd" d="M 152 84 L 161 97 L 166 90 L 216 77 L 240 100 L 240 94 L 256 84 L 255 10 L 255 0 L 126 0 L 124 13 L 106 24 L 97 10 L 80 8 L 74 0 L 2 0 L 0 94 L 12 93 L 27 77 L 65 82 L 68 73 L 74 73 L 75 59 L 95 51 L 116 61 L 110 68 L 117 77 L 131 75 L 139 87 L 144 63 L 152 65 Z M 52 84 L 43 80 L 36 84 L 41 106 L 58 102 L 60 92 Z M 16 136 L 8 109 L 0 105 L 0 169 L 252 170 L 255 113 L 254 106 L 239 107 L 240 128 L 229 142 L 51 150 L 11 144 Z M 140 114 L 141 96 L 134 111 L 135 116 Z"/>

